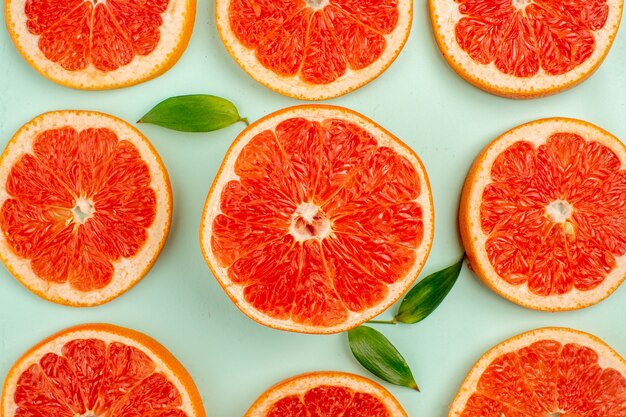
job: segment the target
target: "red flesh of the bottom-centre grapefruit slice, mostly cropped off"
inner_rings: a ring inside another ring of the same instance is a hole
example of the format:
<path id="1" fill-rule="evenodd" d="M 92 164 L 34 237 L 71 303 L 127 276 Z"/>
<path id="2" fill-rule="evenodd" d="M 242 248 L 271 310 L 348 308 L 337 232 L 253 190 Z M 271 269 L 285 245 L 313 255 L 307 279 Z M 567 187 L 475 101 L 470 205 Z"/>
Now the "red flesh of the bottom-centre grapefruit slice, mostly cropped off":
<path id="1" fill-rule="evenodd" d="M 290 395 L 276 401 L 267 417 L 375 416 L 391 417 L 385 405 L 371 394 L 354 392 L 341 386 L 322 385 L 302 395 Z"/>

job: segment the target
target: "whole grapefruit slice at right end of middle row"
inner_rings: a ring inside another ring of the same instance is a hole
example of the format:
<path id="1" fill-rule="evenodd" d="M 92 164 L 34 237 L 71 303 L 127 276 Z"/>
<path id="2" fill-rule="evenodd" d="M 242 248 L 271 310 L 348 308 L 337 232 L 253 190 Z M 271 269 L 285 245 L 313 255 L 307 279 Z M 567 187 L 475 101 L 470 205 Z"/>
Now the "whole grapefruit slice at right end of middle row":
<path id="1" fill-rule="evenodd" d="M 478 156 L 459 215 L 472 269 L 500 295 L 550 311 L 597 303 L 626 277 L 626 147 L 580 120 L 519 126 Z"/>

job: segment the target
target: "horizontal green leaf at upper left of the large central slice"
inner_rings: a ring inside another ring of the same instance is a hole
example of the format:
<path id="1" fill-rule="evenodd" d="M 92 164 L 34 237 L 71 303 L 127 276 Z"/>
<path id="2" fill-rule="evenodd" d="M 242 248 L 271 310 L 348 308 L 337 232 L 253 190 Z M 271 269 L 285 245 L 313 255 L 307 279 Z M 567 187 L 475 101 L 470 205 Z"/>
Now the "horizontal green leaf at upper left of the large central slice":
<path id="1" fill-rule="evenodd" d="M 137 123 L 151 123 L 180 132 L 211 132 L 248 120 L 230 101 L 205 94 L 170 97 L 152 108 Z"/>

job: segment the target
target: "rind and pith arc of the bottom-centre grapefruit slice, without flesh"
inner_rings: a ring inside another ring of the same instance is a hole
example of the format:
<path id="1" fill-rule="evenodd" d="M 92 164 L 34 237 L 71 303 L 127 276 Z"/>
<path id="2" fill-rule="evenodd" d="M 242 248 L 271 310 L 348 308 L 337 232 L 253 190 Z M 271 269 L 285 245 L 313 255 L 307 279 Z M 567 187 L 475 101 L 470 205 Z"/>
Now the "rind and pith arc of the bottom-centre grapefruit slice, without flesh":
<path id="1" fill-rule="evenodd" d="M 381 385 L 359 375 L 334 371 L 311 372 L 279 382 L 264 392 L 252 404 L 244 417 L 265 417 L 272 405 L 280 399 L 290 395 L 303 395 L 320 385 L 341 386 L 370 394 L 385 405 L 390 416 L 407 417 L 398 400 Z"/>

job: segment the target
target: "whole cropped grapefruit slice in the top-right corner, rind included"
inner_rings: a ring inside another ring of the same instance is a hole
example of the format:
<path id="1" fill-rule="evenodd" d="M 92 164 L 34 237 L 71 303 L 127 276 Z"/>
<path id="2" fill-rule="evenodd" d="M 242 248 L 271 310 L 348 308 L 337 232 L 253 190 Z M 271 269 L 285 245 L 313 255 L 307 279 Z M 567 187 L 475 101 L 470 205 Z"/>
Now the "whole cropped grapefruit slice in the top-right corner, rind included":
<path id="1" fill-rule="evenodd" d="M 609 52 L 624 0 L 429 0 L 450 66 L 493 94 L 531 98 L 573 87 Z"/>

